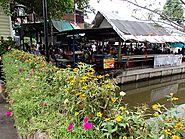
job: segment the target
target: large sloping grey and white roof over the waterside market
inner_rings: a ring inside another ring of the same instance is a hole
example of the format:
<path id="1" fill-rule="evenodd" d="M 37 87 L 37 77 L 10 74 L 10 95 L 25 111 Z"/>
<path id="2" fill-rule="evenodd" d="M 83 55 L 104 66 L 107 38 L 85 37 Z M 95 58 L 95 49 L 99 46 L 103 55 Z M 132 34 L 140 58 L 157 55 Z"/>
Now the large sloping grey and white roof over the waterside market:
<path id="1" fill-rule="evenodd" d="M 93 28 L 111 27 L 124 40 L 148 41 L 151 43 L 185 42 L 185 34 L 172 35 L 165 27 L 153 22 L 122 20 L 113 13 L 98 12 Z"/>

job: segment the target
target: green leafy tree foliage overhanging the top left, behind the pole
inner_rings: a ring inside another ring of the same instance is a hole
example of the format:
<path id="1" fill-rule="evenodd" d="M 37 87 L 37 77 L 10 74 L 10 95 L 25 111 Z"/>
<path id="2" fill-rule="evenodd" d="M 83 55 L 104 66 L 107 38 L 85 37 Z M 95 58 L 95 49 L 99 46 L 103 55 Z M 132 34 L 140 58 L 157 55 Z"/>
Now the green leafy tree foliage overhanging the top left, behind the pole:
<path id="1" fill-rule="evenodd" d="M 89 1 L 90 0 L 47 0 L 49 18 L 62 18 L 64 13 L 73 11 L 74 3 L 76 3 L 80 9 L 86 10 L 90 8 Z M 10 7 L 14 7 L 17 3 L 25 5 L 28 13 L 34 10 L 38 15 L 42 16 L 42 0 L 0 0 L 0 5 L 6 13 L 10 14 L 13 13 Z"/>

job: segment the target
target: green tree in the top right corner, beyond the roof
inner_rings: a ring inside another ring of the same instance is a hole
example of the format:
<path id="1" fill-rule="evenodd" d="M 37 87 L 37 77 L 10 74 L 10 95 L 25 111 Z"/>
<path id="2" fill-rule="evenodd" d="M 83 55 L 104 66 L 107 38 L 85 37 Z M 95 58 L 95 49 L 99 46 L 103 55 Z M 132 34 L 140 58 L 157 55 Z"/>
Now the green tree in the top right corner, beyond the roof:
<path id="1" fill-rule="evenodd" d="M 184 21 L 184 10 L 179 0 L 167 0 L 163 7 L 163 14 L 179 24 Z M 165 18 L 162 19 L 165 20 Z"/>

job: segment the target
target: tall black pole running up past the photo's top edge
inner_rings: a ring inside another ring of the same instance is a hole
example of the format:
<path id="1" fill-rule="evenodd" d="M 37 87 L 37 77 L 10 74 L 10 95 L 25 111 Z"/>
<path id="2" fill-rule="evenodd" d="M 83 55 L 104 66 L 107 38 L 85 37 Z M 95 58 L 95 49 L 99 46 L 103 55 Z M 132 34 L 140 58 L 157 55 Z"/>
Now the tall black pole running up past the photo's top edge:
<path id="1" fill-rule="evenodd" d="M 45 50 L 46 50 L 46 61 L 49 62 L 47 0 L 42 0 L 42 4 L 43 4 L 43 17 L 44 17 L 44 40 L 45 40 Z"/>

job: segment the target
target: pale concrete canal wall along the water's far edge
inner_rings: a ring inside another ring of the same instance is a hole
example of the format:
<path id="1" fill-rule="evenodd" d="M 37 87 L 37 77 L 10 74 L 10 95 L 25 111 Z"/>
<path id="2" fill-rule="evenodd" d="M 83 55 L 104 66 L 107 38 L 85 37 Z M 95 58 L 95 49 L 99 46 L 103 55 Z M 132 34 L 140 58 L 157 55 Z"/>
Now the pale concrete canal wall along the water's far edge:
<path id="1" fill-rule="evenodd" d="M 122 71 L 114 81 L 117 84 L 123 84 L 126 82 L 138 81 L 142 79 L 150 79 L 154 77 L 164 77 L 169 75 L 175 75 L 185 73 L 185 63 L 182 63 L 179 66 L 173 67 L 159 67 L 159 68 L 146 68 L 138 70 L 127 70 Z"/>

